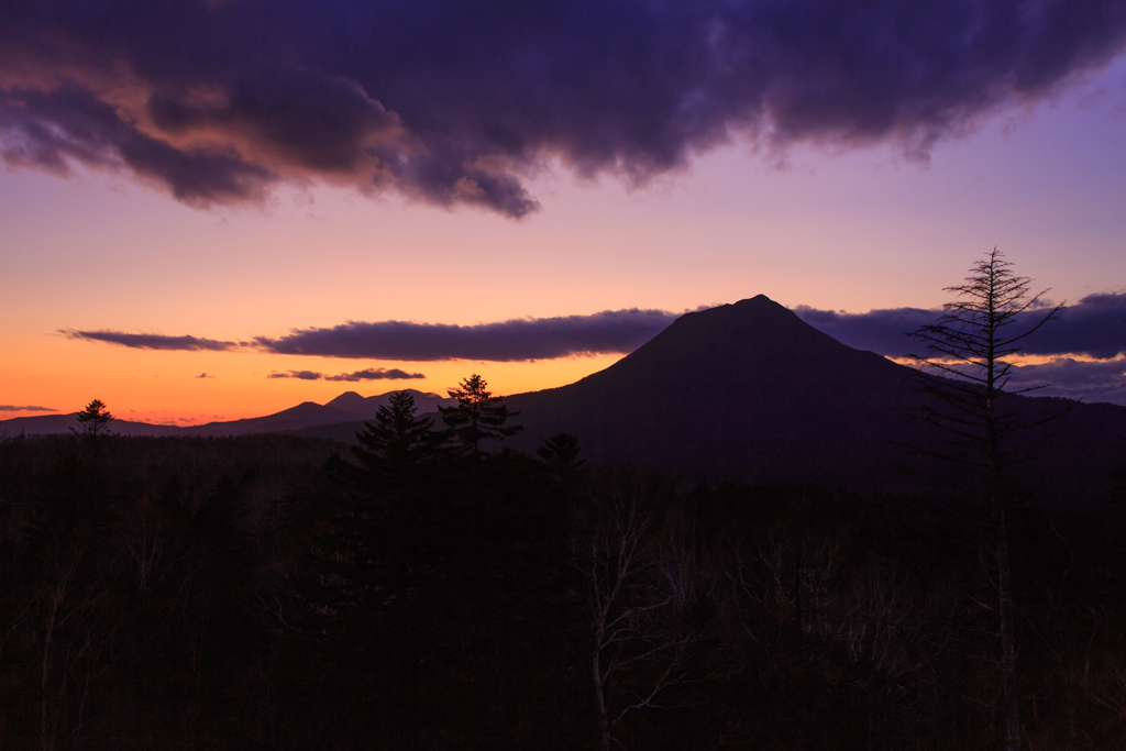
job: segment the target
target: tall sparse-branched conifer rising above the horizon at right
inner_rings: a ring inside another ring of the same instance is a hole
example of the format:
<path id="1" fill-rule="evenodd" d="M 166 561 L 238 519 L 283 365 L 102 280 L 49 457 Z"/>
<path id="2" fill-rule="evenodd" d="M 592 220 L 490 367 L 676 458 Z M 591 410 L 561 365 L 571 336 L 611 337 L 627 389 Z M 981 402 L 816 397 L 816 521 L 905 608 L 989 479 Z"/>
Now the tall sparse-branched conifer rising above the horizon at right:
<path id="1" fill-rule="evenodd" d="M 938 321 L 912 334 L 929 354 L 910 356 L 922 388 L 935 397 L 923 408 L 923 419 L 950 438 L 949 448 L 933 454 L 973 471 L 977 480 L 972 492 L 992 537 L 1007 751 L 1022 746 L 1007 511 L 1016 495 L 1010 471 L 1026 461 L 1029 452 L 1028 446 L 1016 446 L 1012 439 L 1046 420 L 1029 419 L 1011 399 L 1043 386 L 1010 390 L 1013 366 L 1009 358 L 1020 352 L 1022 340 L 1063 309 L 1061 303 L 1040 312 L 1039 302 L 1047 289 L 1030 295 L 1031 280 L 1016 276 L 1011 267 L 994 248 L 974 263 L 963 284 L 946 287 L 955 299 L 942 306 Z"/>

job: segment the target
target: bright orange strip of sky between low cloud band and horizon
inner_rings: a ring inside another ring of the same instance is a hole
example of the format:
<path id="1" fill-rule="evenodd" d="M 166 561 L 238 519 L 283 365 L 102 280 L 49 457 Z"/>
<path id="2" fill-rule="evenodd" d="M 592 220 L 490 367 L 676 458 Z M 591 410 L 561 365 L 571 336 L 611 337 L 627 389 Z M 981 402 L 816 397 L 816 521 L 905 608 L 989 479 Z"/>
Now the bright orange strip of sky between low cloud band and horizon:
<path id="1" fill-rule="evenodd" d="M 309 401 L 323 404 L 347 391 L 372 396 L 414 388 L 445 396 L 447 388 L 473 373 L 482 375 L 494 394 L 538 391 L 573 383 L 623 357 L 402 363 L 242 351 L 140 350 L 62 336 L 29 337 L 24 355 L 0 372 L 0 393 L 6 394 L 2 401 L 56 412 L 2 412 L 0 420 L 77 412 L 91 399 L 100 399 L 119 419 L 179 426 L 262 417 Z M 336 375 L 369 367 L 400 368 L 422 373 L 426 378 L 337 382 L 267 377 L 288 370 Z M 208 377 L 200 378 L 203 374 Z M 11 394 L 20 399 L 7 396 Z"/>

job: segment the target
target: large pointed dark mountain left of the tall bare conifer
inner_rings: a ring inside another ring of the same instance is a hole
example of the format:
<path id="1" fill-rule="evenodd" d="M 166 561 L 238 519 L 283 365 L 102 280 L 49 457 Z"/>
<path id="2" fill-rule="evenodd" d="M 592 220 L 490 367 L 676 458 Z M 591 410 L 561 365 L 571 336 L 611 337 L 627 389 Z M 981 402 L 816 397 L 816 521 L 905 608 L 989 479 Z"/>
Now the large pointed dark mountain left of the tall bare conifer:
<path id="1" fill-rule="evenodd" d="M 578 435 L 599 461 L 752 481 L 886 475 L 909 435 L 910 369 L 851 349 L 765 295 L 677 319 L 615 365 L 518 394 L 520 442 Z M 875 484 L 879 484 L 876 482 Z"/>

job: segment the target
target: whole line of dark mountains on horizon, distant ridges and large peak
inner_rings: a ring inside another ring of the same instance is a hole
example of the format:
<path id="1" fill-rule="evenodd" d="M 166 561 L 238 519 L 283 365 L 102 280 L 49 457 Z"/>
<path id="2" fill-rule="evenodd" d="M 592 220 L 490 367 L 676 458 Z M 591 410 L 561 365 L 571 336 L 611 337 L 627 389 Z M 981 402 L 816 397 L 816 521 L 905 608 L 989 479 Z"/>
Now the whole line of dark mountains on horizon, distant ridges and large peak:
<path id="1" fill-rule="evenodd" d="M 851 349 L 763 295 L 688 313 L 615 365 L 560 388 L 507 399 L 525 430 L 506 446 L 534 453 L 557 432 L 595 462 L 683 476 L 798 482 L 895 492 L 918 482 L 905 446 L 939 436 L 913 420 L 922 396 L 911 368 Z M 421 413 L 452 400 L 411 390 Z M 392 392 L 393 393 L 393 392 Z M 170 428 L 115 421 L 140 436 L 289 432 L 354 441 L 391 393 L 341 394 L 262 418 Z M 1093 498 L 1126 468 L 1126 408 L 1022 400 L 1030 415 L 1064 413 L 1022 470 L 1042 495 Z M 73 415 L 17 418 L 0 435 L 64 432 Z M 933 467 L 931 467 L 933 468 Z"/>

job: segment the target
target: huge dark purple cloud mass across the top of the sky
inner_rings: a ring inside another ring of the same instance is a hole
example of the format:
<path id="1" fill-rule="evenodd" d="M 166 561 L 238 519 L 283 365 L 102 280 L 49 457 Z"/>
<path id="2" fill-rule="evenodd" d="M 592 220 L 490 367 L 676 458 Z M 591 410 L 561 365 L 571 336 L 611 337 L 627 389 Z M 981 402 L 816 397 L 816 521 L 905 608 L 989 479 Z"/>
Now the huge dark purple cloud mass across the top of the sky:
<path id="1" fill-rule="evenodd" d="M 0 153 L 199 206 L 320 179 L 519 217 L 558 159 L 642 185 L 745 136 L 924 158 L 1126 41 L 1121 0 L 0 6 Z"/>

